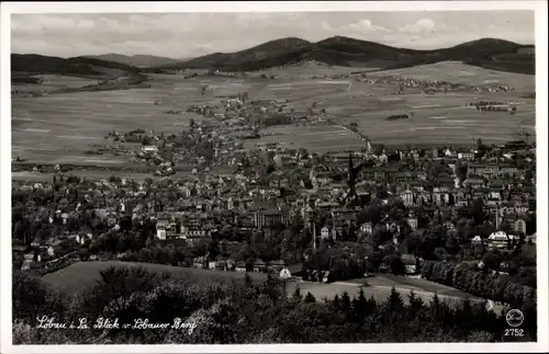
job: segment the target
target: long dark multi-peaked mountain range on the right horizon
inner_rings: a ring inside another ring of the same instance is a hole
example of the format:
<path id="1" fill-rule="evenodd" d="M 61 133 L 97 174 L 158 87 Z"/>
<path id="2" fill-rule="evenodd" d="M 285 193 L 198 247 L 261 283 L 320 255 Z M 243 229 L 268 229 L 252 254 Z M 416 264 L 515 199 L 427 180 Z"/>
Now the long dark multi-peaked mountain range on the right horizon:
<path id="1" fill-rule="evenodd" d="M 317 43 L 300 38 L 270 41 L 236 53 L 214 53 L 164 66 L 161 69 L 220 69 L 255 71 L 304 60 L 347 67 L 396 69 L 453 60 L 501 71 L 535 73 L 533 45 L 482 38 L 450 48 L 415 50 L 335 36 Z M 159 69 L 159 68 L 155 68 Z"/>

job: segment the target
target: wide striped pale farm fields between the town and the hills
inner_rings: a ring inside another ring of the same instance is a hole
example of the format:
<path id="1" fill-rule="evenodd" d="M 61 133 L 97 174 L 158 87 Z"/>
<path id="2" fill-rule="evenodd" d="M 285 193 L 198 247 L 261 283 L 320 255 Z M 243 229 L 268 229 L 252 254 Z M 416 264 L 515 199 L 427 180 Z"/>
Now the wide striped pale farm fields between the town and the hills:
<path id="1" fill-rule="evenodd" d="M 509 84 L 518 90 L 502 93 L 436 93 L 422 94 L 417 89 L 405 89 L 394 94 L 395 85 L 354 82 L 350 79 L 311 79 L 327 72 L 348 73 L 348 68 L 328 68 L 307 64 L 302 67 L 272 69 L 279 79 L 246 80 L 222 77 L 183 79 L 183 75 L 154 75 L 150 89 L 109 92 L 52 94 L 42 98 L 12 99 L 12 156 L 30 161 L 52 163 L 86 162 L 117 164 L 121 157 L 82 157 L 89 145 L 105 144 L 104 135 L 112 129 L 135 128 L 176 133 L 187 126 L 195 114 L 164 114 L 194 104 L 219 104 L 219 95 L 247 91 L 250 100 L 289 100 L 287 109 L 305 113 L 313 103 L 326 110 L 326 117 L 340 123 L 357 122 L 359 129 L 373 144 L 470 144 L 482 138 L 485 142 L 514 139 L 518 124 L 535 126 L 535 102 L 522 99 L 531 92 L 534 77 L 497 72 L 455 62 L 442 62 L 415 68 L 370 72 L 368 77 L 402 76 L 450 82 Z M 201 88 L 208 85 L 205 94 Z M 155 105 L 155 101 L 160 101 Z M 516 102 L 517 113 L 479 113 L 466 106 L 472 101 Z M 408 114 L 410 119 L 385 121 L 392 114 Z M 338 127 L 294 126 L 273 127 L 264 133 L 277 134 L 247 141 L 280 141 L 287 146 L 305 147 L 310 151 L 358 149 L 361 140 Z"/>

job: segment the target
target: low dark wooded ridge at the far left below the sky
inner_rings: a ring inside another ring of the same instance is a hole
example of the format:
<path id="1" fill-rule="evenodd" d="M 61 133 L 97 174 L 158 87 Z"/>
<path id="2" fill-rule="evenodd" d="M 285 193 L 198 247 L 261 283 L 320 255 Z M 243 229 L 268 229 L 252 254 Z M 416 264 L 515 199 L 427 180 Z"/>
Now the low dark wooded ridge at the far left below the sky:
<path id="1" fill-rule="evenodd" d="M 12 54 L 11 71 L 14 76 L 54 73 L 100 78 L 142 77 L 138 68 L 125 64 L 87 57 L 65 59 L 36 54 Z"/>

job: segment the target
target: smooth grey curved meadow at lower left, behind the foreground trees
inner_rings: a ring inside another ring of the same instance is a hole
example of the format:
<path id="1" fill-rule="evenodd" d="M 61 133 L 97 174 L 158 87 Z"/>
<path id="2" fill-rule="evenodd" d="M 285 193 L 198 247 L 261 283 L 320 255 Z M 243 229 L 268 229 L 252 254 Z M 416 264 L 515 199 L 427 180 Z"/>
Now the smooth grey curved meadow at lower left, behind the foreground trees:
<path id="1" fill-rule="evenodd" d="M 57 272 L 46 274 L 42 277 L 42 279 L 52 285 L 54 288 L 58 288 L 66 294 L 76 294 L 97 284 L 97 282 L 101 278 L 100 272 L 108 270 L 110 266 L 142 266 L 150 273 L 168 273 L 175 278 L 182 277 L 203 283 L 211 283 L 214 281 L 244 281 L 245 276 L 242 272 L 199 270 L 152 263 L 105 261 L 77 262 Z M 264 281 L 267 278 L 267 274 L 264 273 L 248 274 L 255 281 Z"/>

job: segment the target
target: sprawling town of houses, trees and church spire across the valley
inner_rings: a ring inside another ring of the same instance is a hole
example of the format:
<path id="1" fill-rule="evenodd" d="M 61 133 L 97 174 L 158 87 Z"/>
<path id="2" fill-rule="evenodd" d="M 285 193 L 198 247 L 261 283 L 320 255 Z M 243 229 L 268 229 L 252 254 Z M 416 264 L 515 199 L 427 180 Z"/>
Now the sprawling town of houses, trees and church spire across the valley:
<path id="1" fill-rule="evenodd" d="M 244 149 L 235 130 L 191 121 L 180 136 L 109 134 L 139 141 L 128 159 L 160 179 L 78 178 L 57 165 L 47 182 L 14 182 L 14 267 L 121 260 L 334 282 L 415 275 L 435 260 L 535 279 L 523 262 L 536 254 L 533 145 L 403 150 L 367 140 L 360 151 L 310 155 Z M 180 164 L 193 168 L 170 175 Z"/>

